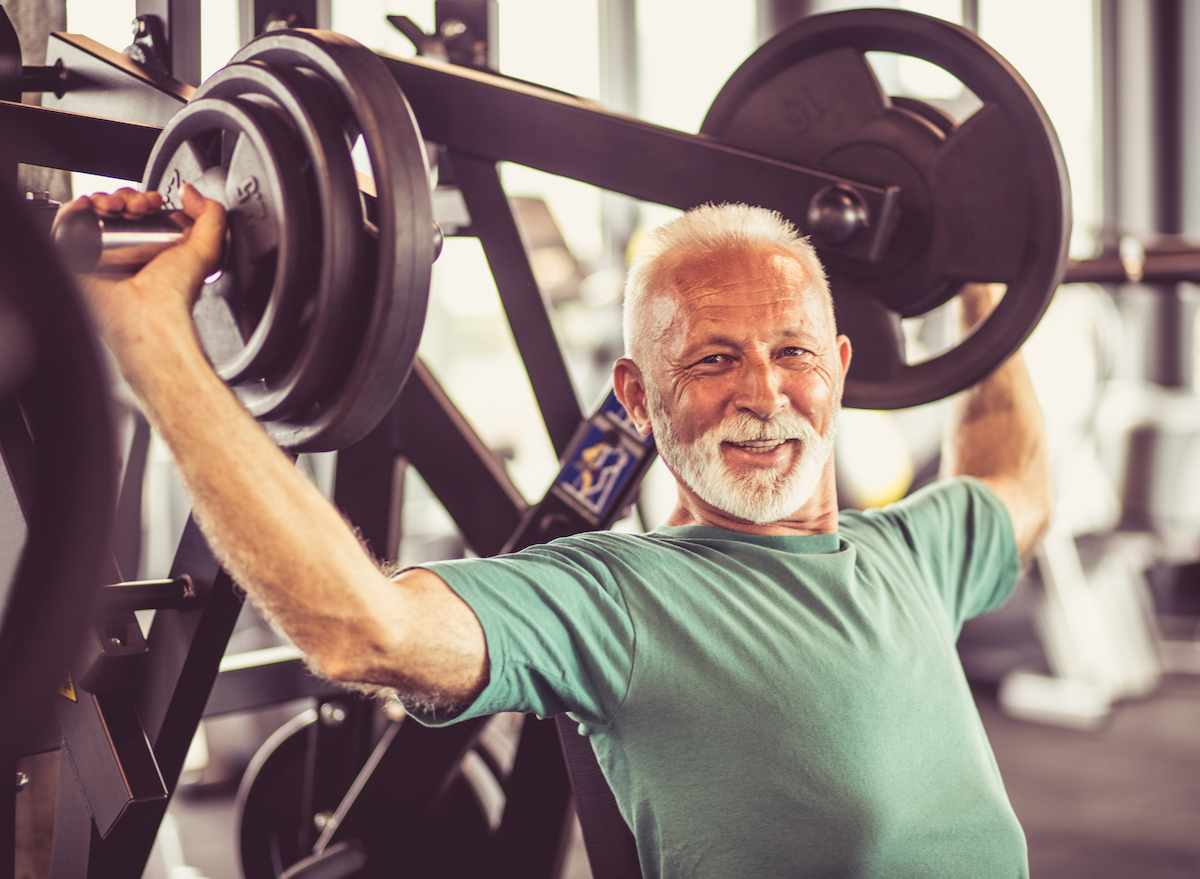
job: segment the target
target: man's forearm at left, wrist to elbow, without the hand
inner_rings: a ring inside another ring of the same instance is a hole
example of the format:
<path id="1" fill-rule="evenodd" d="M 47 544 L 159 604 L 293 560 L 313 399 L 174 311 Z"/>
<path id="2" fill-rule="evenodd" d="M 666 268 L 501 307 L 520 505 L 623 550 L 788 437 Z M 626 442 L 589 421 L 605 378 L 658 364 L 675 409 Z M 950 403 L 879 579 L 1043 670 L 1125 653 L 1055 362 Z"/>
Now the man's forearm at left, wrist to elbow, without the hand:
<path id="1" fill-rule="evenodd" d="M 386 581 L 194 342 L 170 337 L 181 333 L 190 328 L 122 352 L 126 377 L 172 449 L 221 563 L 301 650 L 336 668 L 330 651 L 366 610 L 359 593 Z"/>

